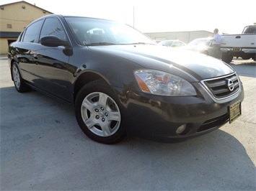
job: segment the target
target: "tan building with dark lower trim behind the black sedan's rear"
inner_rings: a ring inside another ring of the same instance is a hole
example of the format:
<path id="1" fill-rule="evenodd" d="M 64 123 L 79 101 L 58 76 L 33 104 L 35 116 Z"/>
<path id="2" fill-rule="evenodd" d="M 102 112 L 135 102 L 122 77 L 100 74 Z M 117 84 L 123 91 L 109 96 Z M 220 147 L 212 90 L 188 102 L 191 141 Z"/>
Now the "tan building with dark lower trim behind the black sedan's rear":
<path id="1" fill-rule="evenodd" d="M 0 32 L 5 32 L 0 37 L 0 54 L 8 52 L 9 42 L 17 39 L 17 32 L 22 32 L 28 24 L 46 14 L 52 13 L 26 1 L 0 5 Z"/>

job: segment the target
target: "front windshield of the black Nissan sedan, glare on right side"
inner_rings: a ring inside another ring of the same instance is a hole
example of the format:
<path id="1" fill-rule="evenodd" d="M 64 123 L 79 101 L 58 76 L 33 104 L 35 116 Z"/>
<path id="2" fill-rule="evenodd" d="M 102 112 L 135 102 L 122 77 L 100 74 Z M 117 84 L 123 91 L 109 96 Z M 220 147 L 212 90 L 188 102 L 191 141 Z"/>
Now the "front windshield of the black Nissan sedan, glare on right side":
<path id="1" fill-rule="evenodd" d="M 65 18 L 80 45 L 156 45 L 149 37 L 126 24 L 86 17 Z"/>

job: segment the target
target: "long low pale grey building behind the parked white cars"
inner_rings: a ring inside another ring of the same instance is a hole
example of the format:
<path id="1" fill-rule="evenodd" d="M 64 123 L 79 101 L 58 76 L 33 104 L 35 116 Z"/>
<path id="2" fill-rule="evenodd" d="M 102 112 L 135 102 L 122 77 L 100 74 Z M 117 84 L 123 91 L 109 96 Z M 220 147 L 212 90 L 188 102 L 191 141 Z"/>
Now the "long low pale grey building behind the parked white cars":
<path id="1" fill-rule="evenodd" d="M 149 32 L 145 33 L 151 39 L 156 42 L 165 39 L 179 39 L 185 43 L 191 42 L 193 39 L 203 38 L 203 37 L 213 37 L 212 32 L 207 31 L 187 31 L 187 32 Z"/>

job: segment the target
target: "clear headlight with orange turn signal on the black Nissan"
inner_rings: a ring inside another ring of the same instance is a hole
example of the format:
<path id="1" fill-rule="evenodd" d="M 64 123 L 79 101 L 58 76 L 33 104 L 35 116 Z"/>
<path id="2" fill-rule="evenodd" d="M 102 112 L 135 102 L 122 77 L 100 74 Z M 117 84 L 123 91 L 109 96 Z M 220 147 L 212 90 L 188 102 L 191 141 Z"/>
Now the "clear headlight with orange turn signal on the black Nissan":
<path id="1" fill-rule="evenodd" d="M 156 95 L 196 95 L 195 88 L 177 75 L 157 70 L 136 70 L 138 85 L 145 93 Z"/>

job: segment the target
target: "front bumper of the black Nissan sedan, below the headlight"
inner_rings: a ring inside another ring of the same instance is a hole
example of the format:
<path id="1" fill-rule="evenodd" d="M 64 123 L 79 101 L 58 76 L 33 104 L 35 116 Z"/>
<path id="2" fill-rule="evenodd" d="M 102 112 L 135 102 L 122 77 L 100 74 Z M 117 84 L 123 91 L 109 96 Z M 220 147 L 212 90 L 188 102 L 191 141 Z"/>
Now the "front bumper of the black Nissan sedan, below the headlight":
<path id="1" fill-rule="evenodd" d="M 200 96 L 164 97 L 128 92 L 120 96 L 124 112 L 122 123 L 128 133 L 155 141 L 190 139 L 219 129 L 229 121 L 229 106 L 244 100 L 244 90 L 222 100 L 214 99 L 200 83 Z M 186 126 L 184 134 L 177 129 Z"/>

